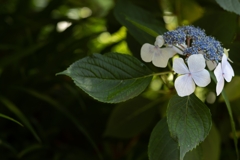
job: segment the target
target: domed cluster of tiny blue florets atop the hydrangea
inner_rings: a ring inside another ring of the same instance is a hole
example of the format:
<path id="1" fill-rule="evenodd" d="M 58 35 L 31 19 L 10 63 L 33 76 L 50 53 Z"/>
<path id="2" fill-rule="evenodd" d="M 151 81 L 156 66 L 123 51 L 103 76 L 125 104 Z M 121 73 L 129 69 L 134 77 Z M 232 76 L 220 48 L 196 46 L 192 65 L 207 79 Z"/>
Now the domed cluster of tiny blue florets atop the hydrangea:
<path id="1" fill-rule="evenodd" d="M 183 55 L 203 54 L 209 61 L 220 62 L 224 53 L 220 42 L 207 36 L 205 31 L 194 26 L 178 27 L 163 34 L 166 45 L 186 46 Z"/>

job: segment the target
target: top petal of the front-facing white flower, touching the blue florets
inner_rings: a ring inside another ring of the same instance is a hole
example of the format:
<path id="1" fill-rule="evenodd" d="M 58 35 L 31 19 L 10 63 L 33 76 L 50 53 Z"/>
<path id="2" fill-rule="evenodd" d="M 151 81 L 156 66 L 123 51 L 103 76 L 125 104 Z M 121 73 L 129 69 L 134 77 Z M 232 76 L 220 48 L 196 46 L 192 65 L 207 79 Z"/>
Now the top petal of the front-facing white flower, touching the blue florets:
<path id="1" fill-rule="evenodd" d="M 206 67 L 205 59 L 202 54 L 191 55 L 187 63 L 191 73 L 201 71 Z"/>

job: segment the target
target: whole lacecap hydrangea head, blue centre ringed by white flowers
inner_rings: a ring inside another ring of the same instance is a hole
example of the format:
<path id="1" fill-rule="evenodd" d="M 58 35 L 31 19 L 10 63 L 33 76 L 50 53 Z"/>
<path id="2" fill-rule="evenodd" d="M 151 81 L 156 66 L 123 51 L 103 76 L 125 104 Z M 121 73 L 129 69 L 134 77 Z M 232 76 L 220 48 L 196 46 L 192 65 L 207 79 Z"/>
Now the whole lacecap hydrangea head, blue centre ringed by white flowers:
<path id="1" fill-rule="evenodd" d="M 227 52 L 219 41 L 207 36 L 204 30 L 183 26 L 159 35 L 154 45 L 145 43 L 141 48 L 141 58 L 164 68 L 175 54 L 181 55 L 182 58 L 173 60 L 173 71 L 179 74 L 174 86 L 181 97 L 192 94 L 196 85 L 206 87 L 211 82 L 209 71 L 214 70 L 216 93 L 219 95 L 225 80 L 230 82 L 234 76 Z"/>

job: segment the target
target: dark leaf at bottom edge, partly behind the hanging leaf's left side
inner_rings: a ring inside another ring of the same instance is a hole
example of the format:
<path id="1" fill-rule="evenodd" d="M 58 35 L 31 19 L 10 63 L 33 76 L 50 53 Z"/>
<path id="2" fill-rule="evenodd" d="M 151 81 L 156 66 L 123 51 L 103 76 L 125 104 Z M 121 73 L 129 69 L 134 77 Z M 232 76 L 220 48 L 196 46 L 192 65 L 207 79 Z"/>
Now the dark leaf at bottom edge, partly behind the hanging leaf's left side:
<path id="1" fill-rule="evenodd" d="M 166 119 L 154 127 L 148 145 L 149 160 L 178 160 L 177 142 L 170 136 Z"/>

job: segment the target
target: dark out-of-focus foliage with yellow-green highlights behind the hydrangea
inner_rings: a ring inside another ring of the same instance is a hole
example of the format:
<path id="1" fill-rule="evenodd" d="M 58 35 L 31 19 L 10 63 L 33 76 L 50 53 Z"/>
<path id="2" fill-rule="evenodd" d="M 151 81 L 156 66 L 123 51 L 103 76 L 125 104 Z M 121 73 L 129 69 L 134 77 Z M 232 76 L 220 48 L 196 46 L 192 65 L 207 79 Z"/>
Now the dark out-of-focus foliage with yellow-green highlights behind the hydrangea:
<path id="1" fill-rule="evenodd" d="M 239 16 L 214 0 L 131 1 L 169 30 L 194 24 L 230 48 L 230 58 L 231 51 L 240 52 Z M 0 1 L 1 160 L 148 159 L 150 133 L 165 115 L 169 94 L 161 89 L 172 86 L 169 77 L 155 77 L 135 99 L 104 104 L 69 77 L 55 76 L 92 53 L 116 51 L 139 58 L 141 41 L 116 20 L 115 7 L 114 0 Z M 233 54 L 231 59 L 239 58 Z M 239 65 L 233 64 L 236 73 Z M 237 129 L 239 85 L 236 77 L 226 88 Z M 225 104 L 220 98 L 208 106 L 221 137 L 221 145 L 214 146 L 221 147 L 217 159 L 234 159 Z"/>

